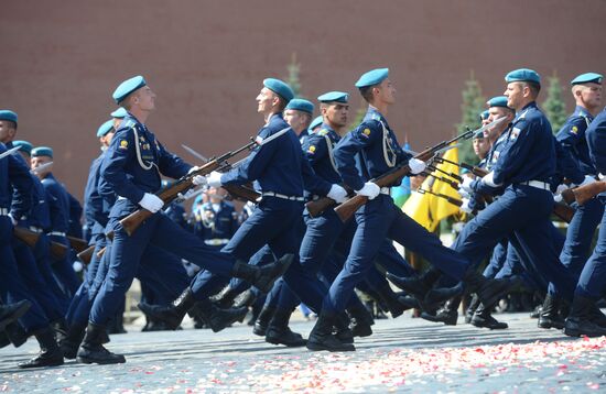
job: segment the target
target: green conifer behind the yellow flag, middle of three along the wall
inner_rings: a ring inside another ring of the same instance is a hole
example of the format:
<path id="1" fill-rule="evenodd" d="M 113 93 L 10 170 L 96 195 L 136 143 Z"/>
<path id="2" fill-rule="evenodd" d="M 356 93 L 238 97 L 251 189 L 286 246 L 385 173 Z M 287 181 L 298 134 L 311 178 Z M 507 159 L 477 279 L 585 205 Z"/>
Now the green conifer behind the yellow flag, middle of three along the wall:
<path id="1" fill-rule="evenodd" d="M 461 105 L 461 123 L 456 125 L 458 133 L 467 131 L 467 128 L 477 129 L 480 125 L 479 114 L 486 109 L 486 98 L 481 96 L 481 87 L 475 78 L 474 70 L 470 70 L 469 79 L 465 81 L 465 88 L 461 92 L 463 103 Z M 468 164 L 479 162 L 474 153 L 470 143 L 463 143 L 459 147 L 459 160 Z"/>

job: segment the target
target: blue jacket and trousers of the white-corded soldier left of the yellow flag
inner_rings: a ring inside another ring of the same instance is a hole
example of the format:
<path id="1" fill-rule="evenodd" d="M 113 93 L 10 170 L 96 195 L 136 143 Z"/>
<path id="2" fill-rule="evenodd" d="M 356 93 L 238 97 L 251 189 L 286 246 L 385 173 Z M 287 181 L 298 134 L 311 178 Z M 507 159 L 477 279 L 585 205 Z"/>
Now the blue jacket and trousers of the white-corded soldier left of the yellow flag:
<path id="1" fill-rule="evenodd" d="M 411 155 L 400 147 L 385 117 L 369 107 L 361 124 L 335 146 L 334 157 L 345 184 L 359 190 L 365 182 L 407 162 Z M 389 188 L 360 208 L 356 221 L 358 227 L 349 256 L 324 298 L 323 313 L 343 310 L 354 286 L 365 277 L 386 238 L 420 253 L 454 277 L 462 278 L 466 272 L 467 260 L 442 245 L 437 237 L 396 207 Z"/>

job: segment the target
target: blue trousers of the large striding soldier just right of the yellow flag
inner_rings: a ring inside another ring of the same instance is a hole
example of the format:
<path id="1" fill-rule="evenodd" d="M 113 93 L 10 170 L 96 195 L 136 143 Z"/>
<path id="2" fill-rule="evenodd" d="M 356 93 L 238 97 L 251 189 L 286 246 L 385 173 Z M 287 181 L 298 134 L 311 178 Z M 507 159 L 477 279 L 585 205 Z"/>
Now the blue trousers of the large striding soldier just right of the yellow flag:
<path id="1" fill-rule="evenodd" d="M 553 282 L 561 294 L 572 299 L 573 277 L 553 244 L 553 225 L 549 220 L 552 209 L 550 191 L 527 185 L 508 186 L 499 199 L 465 225 L 453 249 L 478 266 L 499 240 L 509 237 L 526 256 L 520 256 L 524 270 Z"/>

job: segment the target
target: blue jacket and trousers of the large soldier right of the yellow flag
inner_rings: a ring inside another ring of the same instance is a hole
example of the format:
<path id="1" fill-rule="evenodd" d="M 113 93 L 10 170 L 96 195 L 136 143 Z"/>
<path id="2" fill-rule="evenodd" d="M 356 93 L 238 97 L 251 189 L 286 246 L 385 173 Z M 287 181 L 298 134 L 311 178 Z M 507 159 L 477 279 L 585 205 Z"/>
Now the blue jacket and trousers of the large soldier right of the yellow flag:
<path id="1" fill-rule="evenodd" d="M 453 249 L 477 266 L 499 239 L 515 233 L 510 241 L 527 255 L 522 262 L 532 265 L 524 269 L 540 273 L 571 297 L 572 276 L 551 240 L 549 180 L 555 172 L 551 125 L 531 102 L 517 113 L 506 135 L 507 144 L 493 168 L 494 183 L 504 185 L 505 191 L 463 228 Z"/>

